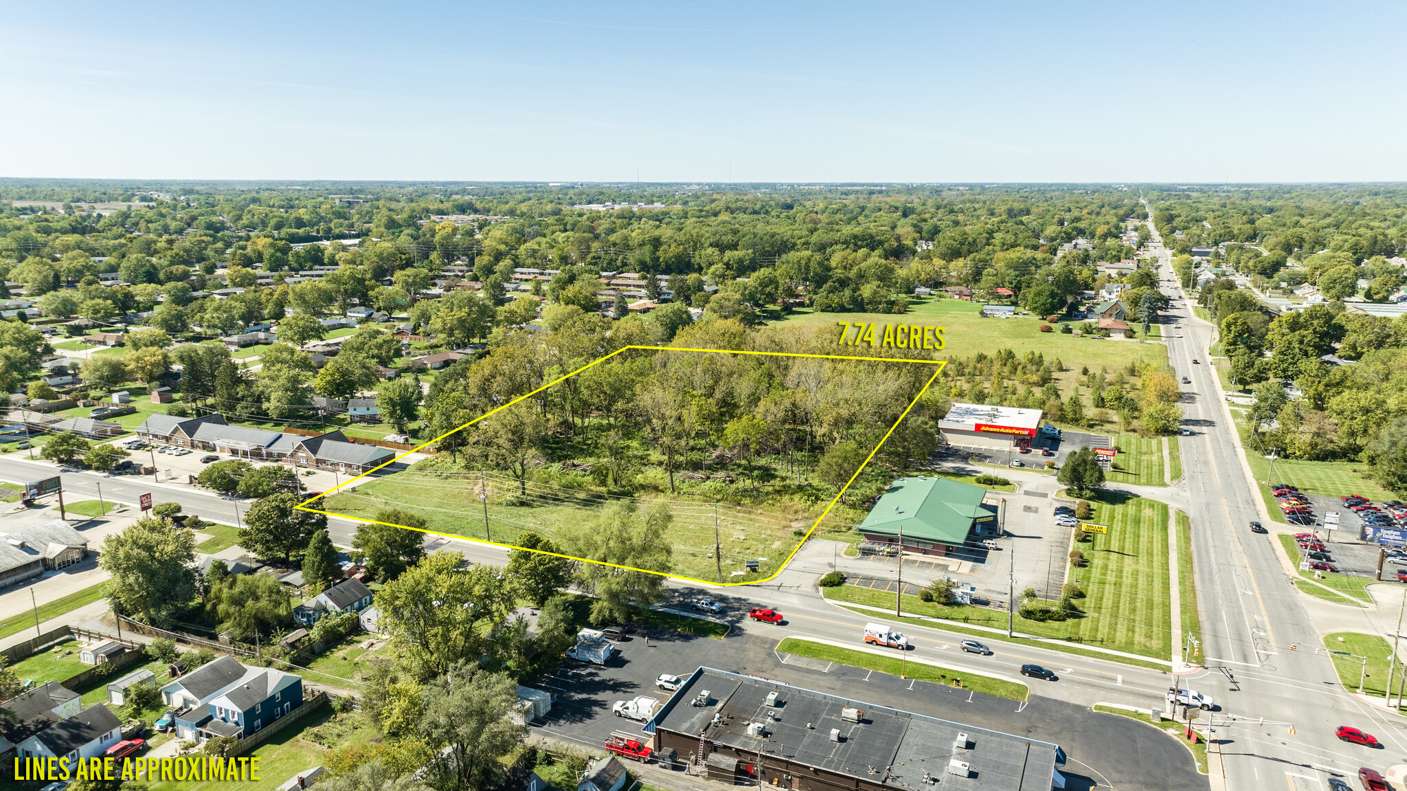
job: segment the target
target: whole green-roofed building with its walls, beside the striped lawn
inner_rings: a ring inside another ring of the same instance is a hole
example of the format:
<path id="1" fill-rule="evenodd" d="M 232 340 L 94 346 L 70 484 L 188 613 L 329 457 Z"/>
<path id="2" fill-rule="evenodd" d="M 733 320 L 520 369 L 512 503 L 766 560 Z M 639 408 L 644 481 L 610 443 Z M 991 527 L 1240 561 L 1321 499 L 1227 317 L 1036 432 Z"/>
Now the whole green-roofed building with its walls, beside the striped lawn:
<path id="1" fill-rule="evenodd" d="M 874 543 L 898 543 L 923 555 L 948 555 L 961 548 L 968 533 L 979 538 L 1000 535 L 996 505 L 983 502 L 986 488 L 948 479 L 899 479 L 879 495 L 860 524 L 860 533 Z"/>

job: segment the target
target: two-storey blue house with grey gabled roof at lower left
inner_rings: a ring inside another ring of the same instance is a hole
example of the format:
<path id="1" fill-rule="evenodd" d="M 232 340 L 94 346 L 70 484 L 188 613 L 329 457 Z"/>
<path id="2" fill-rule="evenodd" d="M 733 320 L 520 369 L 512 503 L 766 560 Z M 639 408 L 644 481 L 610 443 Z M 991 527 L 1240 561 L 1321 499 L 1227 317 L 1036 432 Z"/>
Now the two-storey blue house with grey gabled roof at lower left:
<path id="1" fill-rule="evenodd" d="M 182 739 L 243 739 L 303 705 L 303 678 L 222 656 L 162 687 Z"/>

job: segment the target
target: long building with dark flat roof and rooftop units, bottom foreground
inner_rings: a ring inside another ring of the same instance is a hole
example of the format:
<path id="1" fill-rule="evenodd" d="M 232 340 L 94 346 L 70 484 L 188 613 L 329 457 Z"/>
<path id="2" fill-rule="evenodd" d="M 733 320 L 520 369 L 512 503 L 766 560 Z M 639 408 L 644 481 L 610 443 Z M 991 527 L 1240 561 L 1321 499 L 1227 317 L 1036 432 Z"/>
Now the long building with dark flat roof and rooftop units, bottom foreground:
<path id="1" fill-rule="evenodd" d="M 699 667 L 644 726 L 715 777 L 795 791 L 1050 791 L 1059 746 Z M 704 754 L 699 754 L 699 750 Z M 702 771 L 699 771 L 702 774 Z"/>

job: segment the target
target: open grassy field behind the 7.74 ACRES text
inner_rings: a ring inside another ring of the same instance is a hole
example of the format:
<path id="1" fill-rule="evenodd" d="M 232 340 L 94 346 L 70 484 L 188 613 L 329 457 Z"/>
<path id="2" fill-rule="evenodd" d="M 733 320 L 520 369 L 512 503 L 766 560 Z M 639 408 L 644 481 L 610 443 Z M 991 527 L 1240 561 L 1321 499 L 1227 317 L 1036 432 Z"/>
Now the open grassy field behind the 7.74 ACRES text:
<path id="1" fill-rule="evenodd" d="M 827 338 L 839 336 L 837 321 L 875 322 L 881 329 L 885 324 L 937 324 L 946 328 L 943 335 L 947 342 L 940 356 L 964 357 L 978 352 L 991 355 L 1005 348 L 1020 353 L 1040 352 L 1045 359 L 1059 357 L 1065 367 L 1076 372 L 1086 365 L 1095 370 L 1100 366 L 1114 370 L 1134 360 L 1159 362 L 1166 356 L 1166 349 L 1157 343 L 1090 341 L 1059 332 L 1040 332 L 1037 328 L 1044 322 L 1037 317 L 982 318 L 978 315 L 981 310 L 981 304 L 962 300 L 915 300 L 909 303 L 909 312 L 903 315 L 798 310 L 770 324 L 782 328 L 794 325 L 815 328 Z M 846 348 L 850 352 L 864 349 L 864 346 Z"/>

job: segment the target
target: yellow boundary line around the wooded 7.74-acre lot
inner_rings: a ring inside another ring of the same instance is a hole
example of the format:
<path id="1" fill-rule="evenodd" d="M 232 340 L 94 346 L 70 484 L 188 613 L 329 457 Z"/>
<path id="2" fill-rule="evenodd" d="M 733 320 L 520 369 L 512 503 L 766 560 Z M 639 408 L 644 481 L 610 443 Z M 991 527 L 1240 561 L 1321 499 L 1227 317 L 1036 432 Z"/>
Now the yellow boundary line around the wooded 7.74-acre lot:
<path id="1" fill-rule="evenodd" d="M 879 449 L 884 448 L 884 443 L 889 441 L 889 435 L 893 434 L 893 429 L 899 428 L 899 424 L 903 422 L 903 418 L 909 417 L 909 411 L 913 410 L 913 405 L 919 403 L 919 398 L 923 398 L 923 394 L 927 393 L 929 387 L 933 386 L 933 380 L 936 380 L 938 377 L 938 374 L 943 373 L 944 366 L 947 366 L 947 360 L 909 360 L 909 359 L 903 359 L 903 357 L 860 357 L 860 356 L 850 356 L 850 355 L 808 355 L 808 353 L 802 353 L 802 352 L 747 352 L 747 350 L 739 350 L 739 349 L 691 349 L 691 348 L 678 348 L 678 346 L 625 346 L 622 349 L 616 349 L 615 352 L 611 352 L 609 355 L 606 355 L 606 356 L 604 356 L 604 357 L 601 357 L 598 360 L 590 362 L 590 363 L 578 367 L 577 370 L 574 370 L 574 372 L 571 372 L 568 374 L 560 376 L 560 377 L 549 381 L 547 384 L 543 384 L 542 387 L 533 390 L 532 393 L 528 393 L 525 396 L 519 396 L 518 398 L 514 398 L 512 401 L 504 404 L 502 407 L 498 407 L 497 410 L 485 412 L 485 414 L 483 414 L 483 415 L 480 415 L 480 417 L 469 421 L 467 424 L 464 424 L 461 426 L 457 426 L 457 428 L 453 428 L 450 431 L 446 431 L 445 434 L 436 436 L 435 439 L 428 439 L 428 441 L 416 445 L 415 448 L 407 450 L 405 453 L 401 453 L 400 456 L 394 456 L 394 457 L 391 457 L 391 460 L 388 460 L 388 462 L 386 462 L 383 464 L 378 464 L 376 467 L 371 467 L 370 470 L 362 473 L 360 476 L 357 476 L 355 479 L 350 479 L 350 480 L 348 480 L 345 483 L 340 483 L 340 484 L 329 488 L 328 491 L 322 493 L 319 497 L 328 497 L 329 494 L 332 494 L 333 491 L 342 488 L 343 486 L 352 486 L 353 483 L 364 479 L 366 476 L 369 476 L 369 474 L 371 474 L 371 473 L 374 473 L 377 470 L 380 470 L 381 467 L 394 464 L 395 462 L 398 462 L 398 460 L 409 456 L 411 453 L 418 452 L 421 448 L 425 448 L 428 445 L 433 445 L 433 443 L 439 442 L 440 439 L 445 439 L 446 436 L 454 434 L 456 431 L 464 431 L 466 428 L 477 424 L 478 421 L 481 421 L 481 419 L 484 419 L 487 417 L 494 415 L 495 412 L 507 410 L 508 407 L 512 407 L 514 404 L 518 404 L 519 401 L 525 401 L 528 398 L 532 398 L 533 396 L 542 393 L 543 390 L 546 390 L 546 388 L 549 388 L 549 387 L 552 387 L 554 384 L 560 384 L 560 383 L 571 379 L 573 376 L 577 376 L 578 373 L 587 370 L 588 367 L 591 367 L 594 365 L 598 365 L 598 363 L 604 363 L 604 362 L 609 360 L 611 357 L 619 355 L 620 352 L 626 352 L 626 350 L 630 350 L 630 349 L 654 350 L 654 352 L 702 352 L 702 353 L 708 353 L 708 355 L 754 355 L 754 356 L 761 356 L 761 357 L 816 357 L 816 359 L 826 359 L 826 360 L 867 360 L 867 362 L 877 362 L 877 363 L 930 365 L 930 366 L 938 366 L 938 367 L 937 367 L 937 370 L 933 372 L 933 376 L 930 376 L 929 380 L 923 383 L 923 387 L 919 390 L 919 394 L 915 396 L 913 400 L 909 401 L 909 405 L 903 408 L 903 412 L 899 415 L 899 419 L 893 421 L 893 425 L 889 426 L 889 431 L 886 431 L 884 434 L 884 438 L 879 439 L 879 445 L 875 445 L 874 450 L 871 450 L 870 455 L 865 456 L 865 460 L 861 462 L 860 467 L 855 469 L 855 473 L 853 476 L 850 476 L 850 480 L 846 481 L 846 486 L 840 487 L 840 491 L 837 491 L 836 497 L 832 498 L 830 505 L 826 505 L 826 510 L 820 512 L 820 517 L 817 517 L 816 521 L 812 522 L 810 529 L 808 529 L 806 535 L 803 535 L 801 538 L 801 540 L 796 542 L 796 546 L 792 548 L 791 553 L 787 556 L 785 560 L 782 560 L 781 566 L 778 566 L 777 570 L 772 571 L 770 576 L 763 577 L 760 580 L 749 580 L 746 583 L 723 583 L 723 581 L 713 581 L 713 580 L 699 580 L 699 578 L 695 578 L 695 577 L 682 577 L 682 576 L 678 576 L 678 574 L 666 574 L 666 573 L 661 573 L 661 571 L 651 571 L 649 569 L 636 569 L 635 566 L 622 566 L 622 564 L 618 564 L 618 563 L 606 563 L 604 560 L 591 560 L 588 557 L 577 557 L 574 555 L 563 555 L 560 552 L 543 552 L 540 549 L 529 549 L 529 548 L 516 546 L 516 545 L 512 545 L 512 543 L 501 543 L 501 542 L 497 542 L 497 540 L 477 539 L 477 538 L 470 538 L 470 536 L 461 536 L 461 535 L 457 535 L 457 533 L 443 533 L 443 532 L 439 532 L 439 531 L 431 531 L 431 529 L 425 529 L 425 528 L 409 528 L 407 525 L 395 525 L 395 524 L 391 524 L 391 522 L 377 522 L 376 519 L 363 519 L 360 517 L 352 517 L 352 515 L 348 515 L 348 514 L 336 514 L 336 512 L 332 512 L 332 511 L 318 511 L 317 508 L 308 508 L 307 507 L 308 502 L 312 502 L 314 500 L 317 500 L 314 497 L 310 497 L 308 500 L 304 500 L 295 508 L 298 511 L 310 511 L 312 514 L 322 514 L 325 517 L 339 517 L 342 519 L 352 519 L 352 521 L 356 521 L 356 522 L 366 522 L 366 524 L 371 524 L 371 525 L 386 525 L 388 528 L 401 528 L 401 529 L 407 529 L 407 531 L 416 531 L 416 532 L 422 532 L 422 533 L 428 533 L 428 535 L 433 535 L 433 536 L 440 536 L 440 538 L 452 538 L 452 539 L 459 539 L 459 540 L 469 540 L 469 542 L 474 542 L 474 543 L 483 543 L 483 545 L 488 545 L 488 546 L 498 546 L 498 548 L 504 548 L 504 549 L 516 549 L 516 550 L 521 550 L 521 552 L 536 552 L 537 555 L 550 555 L 553 557 L 566 557 L 567 560 L 577 560 L 577 562 L 581 562 L 581 563 L 595 563 L 597 566 L 609 566 L 612 569 L 622 569 L 625 571 L 642 571 L 644 574 L 657 574 L 660 577 L 668 577 L 671 580 L 685 580 L 685 581 L 689 581 L 689 583 L 701 583 L 701 584 L 705 584 L 705 586 L 726 586 L 726 587 L 756 586 L 756 584 L 767 583 L 767 581 L 771 581 L 771 580 L 777 578 L 777 576 L 781 574 L 787 569 L 787 566 L 792 562 L 792 557 L 795 557 L 796 553 L 801 552 L 801 548 L 806 545 L 806 540 L 810 538 L 810 535 L 813 532 L 816 532 L 817 526 L 820 526 L 822 519 L 825 519 L 826 515 L 830 514 L 830 510 L 834 508 L 837 502 L 840 502 L 840 498 L 850 488 L 850 484 L 855 483 L 855 479 L 860 477 L 860 473 L 862 473 L 864 469 L 870 464 L 871 459 L 875 457 L 875 453 L 878 453 Z"/>

